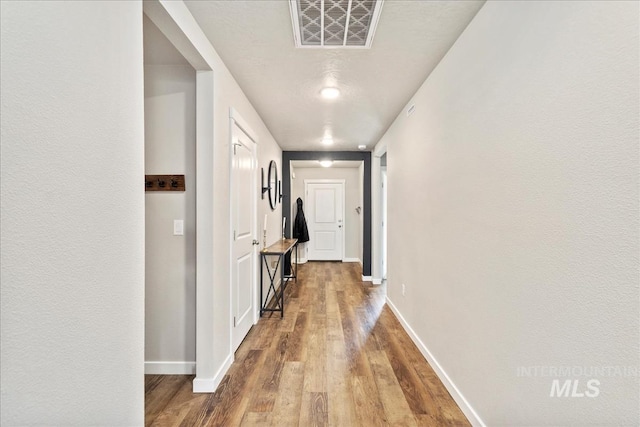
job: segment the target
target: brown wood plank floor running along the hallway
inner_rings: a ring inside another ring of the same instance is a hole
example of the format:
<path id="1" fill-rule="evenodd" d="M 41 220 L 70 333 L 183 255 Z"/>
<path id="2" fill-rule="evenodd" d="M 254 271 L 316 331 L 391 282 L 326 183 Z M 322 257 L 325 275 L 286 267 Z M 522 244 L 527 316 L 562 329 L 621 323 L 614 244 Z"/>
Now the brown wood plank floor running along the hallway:
<path id="1" fill-rule="evenodd" d="M 357 264 L 310 262 L 238 348 L 216 393 L 145 377 L 147 426 L 467 426 Z"/>

